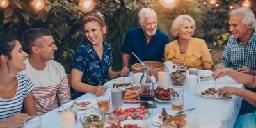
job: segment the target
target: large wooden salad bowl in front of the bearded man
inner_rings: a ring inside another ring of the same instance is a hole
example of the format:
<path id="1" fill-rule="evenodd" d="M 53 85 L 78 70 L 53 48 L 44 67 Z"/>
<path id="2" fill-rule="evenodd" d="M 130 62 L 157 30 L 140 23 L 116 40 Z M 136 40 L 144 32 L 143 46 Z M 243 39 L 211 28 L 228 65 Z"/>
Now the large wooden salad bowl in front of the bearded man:
<path id="1" fill-rule="evenodd" d="M 145 61 L 143 63 L 148 66 L 149 70 L 154 74 L 156 81 L 158 81 L 158 72 L 164 72 L 164 63 L 157 61 Z M 141 63 L 132 65 L 132 73 L 135 74 L 137 72 L 142 72 Z M 150 76 L 152 76 L 152 74 L 150 73 Z"/>

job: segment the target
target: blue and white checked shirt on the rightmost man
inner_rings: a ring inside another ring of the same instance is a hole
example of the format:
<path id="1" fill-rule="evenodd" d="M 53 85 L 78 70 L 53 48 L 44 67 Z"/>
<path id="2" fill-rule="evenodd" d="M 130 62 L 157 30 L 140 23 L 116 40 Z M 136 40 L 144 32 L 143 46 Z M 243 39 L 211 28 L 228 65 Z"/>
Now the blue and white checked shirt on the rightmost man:
<path id="1" fill-rule="evenodd" d="M 256 31 L 253 30 L 253 35 L 246 45 L 230 36 L 223 52 L 221 65 L 234 70 L 241 67 L 256 70 Z"/>

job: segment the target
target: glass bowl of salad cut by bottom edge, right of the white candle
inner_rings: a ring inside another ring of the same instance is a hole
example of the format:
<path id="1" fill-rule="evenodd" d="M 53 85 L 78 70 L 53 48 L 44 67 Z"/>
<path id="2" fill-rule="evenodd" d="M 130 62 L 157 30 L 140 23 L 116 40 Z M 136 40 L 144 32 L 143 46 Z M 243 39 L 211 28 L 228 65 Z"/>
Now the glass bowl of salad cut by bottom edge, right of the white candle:
<path id="1" fill-rule="evenodd" d="M 83 128 L 103 128 L 105 125 L 105 116 L 90 114 L 80 117 L 80 122 Z"/>

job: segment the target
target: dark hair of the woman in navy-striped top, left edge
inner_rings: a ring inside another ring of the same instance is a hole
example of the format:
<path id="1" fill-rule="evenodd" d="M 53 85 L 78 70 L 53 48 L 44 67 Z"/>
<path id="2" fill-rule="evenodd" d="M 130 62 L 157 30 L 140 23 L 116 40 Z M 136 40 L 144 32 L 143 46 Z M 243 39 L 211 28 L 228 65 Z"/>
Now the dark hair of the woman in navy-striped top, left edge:
<path id="1" fill-rule="evenodd" d="M 0 35 L 0 56 L 4 55 L 8 57 L 8 61 L 11 59 L 11 52 L 16 45 L 17 39 L 12 35 Z M 7 65 L 9 68 L 9 65 Z"/>

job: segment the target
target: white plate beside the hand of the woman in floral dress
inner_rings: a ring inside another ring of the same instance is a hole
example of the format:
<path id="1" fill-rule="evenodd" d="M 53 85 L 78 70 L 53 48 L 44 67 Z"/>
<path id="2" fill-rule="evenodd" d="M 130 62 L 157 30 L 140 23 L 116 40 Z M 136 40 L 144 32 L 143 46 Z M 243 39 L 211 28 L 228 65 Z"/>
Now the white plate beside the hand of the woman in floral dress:
<path id="1" fill-rule="evenodd" d="M 122 84 L 122 83 L 131 83 L 131 78 L 130 77 L 118 77 L 116 79 L 112 79 L 108 82 L 106 82 L 104 84 L 104 86 L 108 87 L 108 88 L 113 88 L 113 82 L 115 82 L 116 84 Z M 122 86 L 122 87 L 119 87 L 119 88 L 127 88 L 127 87 L 131 87 L 131 85 L 128 85 L 128 86 Z"/>

